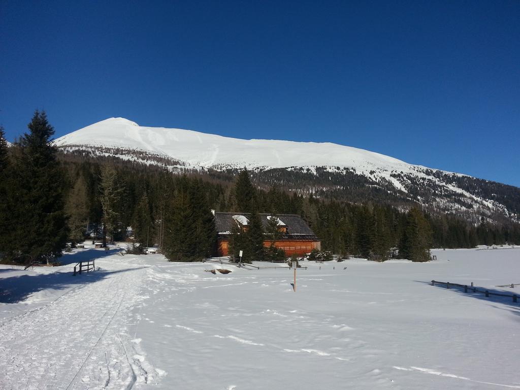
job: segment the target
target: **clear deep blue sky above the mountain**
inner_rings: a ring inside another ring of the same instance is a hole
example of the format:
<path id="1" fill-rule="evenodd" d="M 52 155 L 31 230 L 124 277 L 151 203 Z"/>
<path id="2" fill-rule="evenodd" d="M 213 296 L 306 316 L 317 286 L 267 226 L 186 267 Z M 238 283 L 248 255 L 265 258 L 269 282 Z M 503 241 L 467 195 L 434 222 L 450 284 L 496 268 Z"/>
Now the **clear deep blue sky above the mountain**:
<path id="1" fill-rule="evenodd" d="M 0 123 L 328 141 L 520 187 L 520 2 L 0 0 Z"/>

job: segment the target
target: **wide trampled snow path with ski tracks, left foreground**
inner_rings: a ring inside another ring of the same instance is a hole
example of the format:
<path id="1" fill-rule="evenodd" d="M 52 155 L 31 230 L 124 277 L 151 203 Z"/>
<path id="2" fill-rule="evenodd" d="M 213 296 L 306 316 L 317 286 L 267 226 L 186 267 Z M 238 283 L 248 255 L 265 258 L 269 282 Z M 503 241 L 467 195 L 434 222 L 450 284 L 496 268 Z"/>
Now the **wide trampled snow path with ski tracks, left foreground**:
<path id="1" fill-rule="evenodd" d="M 89 281 L 93 274 L 76 276 L 85 278 L 81 288 L 6 320 L 0 326 L 0 388 L 119 389 L 153 380 L 151 367 L 133 357 L 139 346 L 129 314 L 145 273 L 129 265 L 95 281 Z"/>

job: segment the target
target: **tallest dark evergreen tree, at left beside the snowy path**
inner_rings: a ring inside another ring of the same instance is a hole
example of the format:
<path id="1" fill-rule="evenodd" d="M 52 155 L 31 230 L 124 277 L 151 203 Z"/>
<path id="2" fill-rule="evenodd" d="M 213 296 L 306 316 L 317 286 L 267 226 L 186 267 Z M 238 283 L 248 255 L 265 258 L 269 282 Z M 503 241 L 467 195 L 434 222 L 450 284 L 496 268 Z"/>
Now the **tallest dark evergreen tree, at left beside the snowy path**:
<path id="1" fill-rule="evenodd" d="M 29 133 L 17 145 L 11 190 L 16 198 L 12 207 L 10 242 L 12 255 L 25 262 L 42 261 L 61 254 L 67 241 L 64 213 L 64 173 L 51 143 L 54 128 L 45 112 L 35 111 Z"/>

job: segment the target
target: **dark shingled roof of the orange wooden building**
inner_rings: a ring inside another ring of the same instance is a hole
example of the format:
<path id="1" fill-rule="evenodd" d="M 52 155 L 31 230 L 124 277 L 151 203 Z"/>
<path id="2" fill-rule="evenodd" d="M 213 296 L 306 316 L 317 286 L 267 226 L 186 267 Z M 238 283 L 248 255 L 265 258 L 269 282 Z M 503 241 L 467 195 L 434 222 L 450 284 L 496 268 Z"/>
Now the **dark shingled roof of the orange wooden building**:
<path id="1" fill-rule="evenodd" d="M 231 231 L 233 226 L 236 226 L 235 219 L 233 219 L 233 215 L 243 215 L 244 217 L 249 219 L 249 213 L 220 213 L 215 212 L 215 225 L 217 228 L 217 232 Z M 262 225 L 264 229 L 268 226 L 267 216 L 272 215 L 268 213 L 259 214 L 260 219 L 262 220 Z M 302 219 L 301 216 L 296 214 L 277 214 L 278 218 L 285 224 L 287 227 L 287 235 L 284 236 L 313 236 L 316 238 L 314 232 L 310 230 L 307 223 Z M 296 238 L 296 237 L 295 237 Z"/>

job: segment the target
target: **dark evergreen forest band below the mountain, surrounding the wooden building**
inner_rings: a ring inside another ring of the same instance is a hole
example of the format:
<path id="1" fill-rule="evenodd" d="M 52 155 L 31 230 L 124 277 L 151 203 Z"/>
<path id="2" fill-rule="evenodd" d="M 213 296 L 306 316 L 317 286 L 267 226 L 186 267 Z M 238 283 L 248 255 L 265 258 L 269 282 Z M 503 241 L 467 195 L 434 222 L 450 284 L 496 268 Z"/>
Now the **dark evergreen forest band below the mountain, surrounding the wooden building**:
<path id="1" fill-rule="evenodd" d="M 157 245 L 174 261 L 201 259 L 215 249 L 211 209 L 251 213 L 247 234 L 239 226 L 232 232 L 230 250 L 244 248 L 257 259 L 283 256 L 273 245 L 264 249 L 265 237 L 275 241 L 278 229 L 273 222 L 264 231 L 258 213 L 298 214 L 321 239 L 322 249 L 376 261 L 392 256 L 425 261 L 430 248 L 520 244 L 520 225 L 512 222 L 482 218 L 472 224 L 413 205 L 353 203 L 334 192 L 303 196 L 279 186 L 266 188 L 245 169 L 172 174 L 158 165 L 62 153 L 52 144 L 54 129 L 45 112 L 36 111 L 28 128 L 10 148 L 0 129 L 4 262 L 55 257 L 67 243 L 85 238 L 106 245 L 128 237 L 137 250 Z M 289 187 L 290 178 L 287 182 Z"/>

